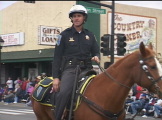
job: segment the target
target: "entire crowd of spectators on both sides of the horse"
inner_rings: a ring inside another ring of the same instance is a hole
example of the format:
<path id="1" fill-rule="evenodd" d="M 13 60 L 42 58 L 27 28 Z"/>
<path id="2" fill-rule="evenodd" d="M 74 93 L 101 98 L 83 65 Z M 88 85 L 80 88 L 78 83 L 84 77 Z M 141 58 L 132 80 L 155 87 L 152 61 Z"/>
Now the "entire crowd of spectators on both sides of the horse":
<path id="1" fill-rule="evenodd" d="M 9 103 L 26 102 L 26 105 L 31 106 L 29 96 L 34 90 L 34 86 L 44 77 L 45 73 L 35 77 L 35 80 L 18 77 L 12 80 L 11 77 L 6 81 L 5 87 L 0 87 L 0 101 L 5 102 L 4 105 Z M 28 101 L 28 102 L 27 102 Z M 129 92 L 125 102 L 126 114 L 132 116 L 141 115 L 147 118 L 155 117 L 162 118 L 162 99 L 158 98 L 156 94 L 150 94 L 148 90 L 139 85 L 134 84 Z"/>

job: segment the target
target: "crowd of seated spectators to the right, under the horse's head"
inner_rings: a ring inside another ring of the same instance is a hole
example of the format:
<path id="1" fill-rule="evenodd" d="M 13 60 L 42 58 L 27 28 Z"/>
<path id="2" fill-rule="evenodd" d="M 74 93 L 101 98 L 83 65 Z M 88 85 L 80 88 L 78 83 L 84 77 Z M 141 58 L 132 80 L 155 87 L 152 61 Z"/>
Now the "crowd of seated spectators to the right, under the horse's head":
<path id="1" fill-rule="evenodd" d="M 125 106 L 126 114 L 132 116 L 162 118 L 162 99 L 136 84 L 132 87 Z"/>

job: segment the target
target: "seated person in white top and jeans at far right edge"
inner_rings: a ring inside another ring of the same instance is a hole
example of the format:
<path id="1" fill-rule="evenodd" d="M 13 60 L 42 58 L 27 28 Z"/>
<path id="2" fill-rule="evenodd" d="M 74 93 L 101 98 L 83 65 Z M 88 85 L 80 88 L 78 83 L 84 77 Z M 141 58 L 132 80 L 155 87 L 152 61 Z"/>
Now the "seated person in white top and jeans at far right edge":
<path id="1" fill-rule="evenodd" d="M 156 118 L 162 118 L 162 99 L 157 100 L 157 103 L 155 103 L 154 105 L 154 109 L 155 109 L 154 116 Z"/>

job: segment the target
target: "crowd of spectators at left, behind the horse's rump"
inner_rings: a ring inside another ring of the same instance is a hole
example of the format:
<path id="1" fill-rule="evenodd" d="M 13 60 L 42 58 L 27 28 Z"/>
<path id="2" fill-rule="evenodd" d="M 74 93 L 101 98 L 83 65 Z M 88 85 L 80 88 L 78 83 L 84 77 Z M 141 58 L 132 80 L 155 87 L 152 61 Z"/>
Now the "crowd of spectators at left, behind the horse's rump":
<path id="1" fill-rule="evenodd" d="M 34 86 L 44 77 L 45 73 L 35 77 L 34 80 L 27 79 L 26 77 L 18 77 L 16 80 L 12 80 L 8 77 L 6 85 L 0 87 L 0 101 L 4 102 L 4 105 L 9 103 L 26 102 L 26 105 L 31 106 L 30 95 L 34 90 Z"/>

